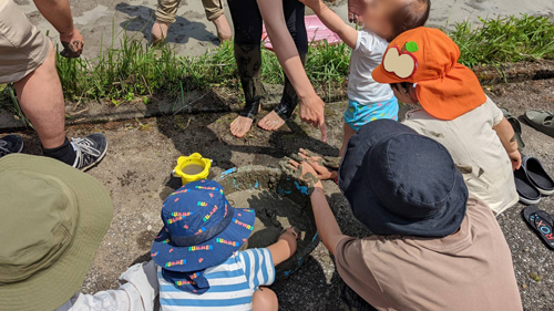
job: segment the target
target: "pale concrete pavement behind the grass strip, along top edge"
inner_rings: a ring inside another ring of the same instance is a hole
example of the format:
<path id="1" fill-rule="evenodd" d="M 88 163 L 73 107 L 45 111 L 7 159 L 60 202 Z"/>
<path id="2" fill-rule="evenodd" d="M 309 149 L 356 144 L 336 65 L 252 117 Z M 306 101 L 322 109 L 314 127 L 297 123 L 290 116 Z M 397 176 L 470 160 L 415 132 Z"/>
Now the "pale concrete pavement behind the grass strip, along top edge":
<path id="1" fill-rule="evenodd" d="M 29 0 L 16 1 L 30 20 L 58 42 L 57 31 L 40 15 L 34 3 Z M 226 1 L 225 15 L 232 22 Z M 75 24 L 85 39 L 84 56 L 94 58 L 100 46 L 120 46 L 113 34 L 125 29 L 130 35 L 150 38 L 154 22 L 156 0 L 71 0 Z M 343 20 L 347 19 L 347 0 L 338 0 L 330 6 Z M 308 10 L 309 11 L 309 10 Z M 537 14 L 553 17 L 552 0 L 434 0 L 428 25 L 451 28 L 463 20 L 478 21 L 479 17 L 495 18 L 509 14 Z M 309 12 L 308 12 L 309 13 Z M 167 42 L 183 55 L 199 55 L 219 43 L 213 23 L 205 18 L 202 1 L 182 0 L 177 21 L 170 28 Z"/>

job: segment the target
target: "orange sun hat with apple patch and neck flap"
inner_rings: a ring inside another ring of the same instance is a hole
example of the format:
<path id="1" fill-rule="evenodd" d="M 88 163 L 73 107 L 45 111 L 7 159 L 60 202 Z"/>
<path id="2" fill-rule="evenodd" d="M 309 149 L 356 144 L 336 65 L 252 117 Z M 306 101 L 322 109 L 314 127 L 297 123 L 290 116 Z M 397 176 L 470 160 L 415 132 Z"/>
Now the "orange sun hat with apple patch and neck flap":
<path id="1" fill-rule="evenodd" d="M 379 83 L 417 83 L 425 112 L 454 120 L 486 101 L 478 77 L 459 58 L 460 49 L 444 32 L 419 27 L 390 42 L 372 76 Z"/>

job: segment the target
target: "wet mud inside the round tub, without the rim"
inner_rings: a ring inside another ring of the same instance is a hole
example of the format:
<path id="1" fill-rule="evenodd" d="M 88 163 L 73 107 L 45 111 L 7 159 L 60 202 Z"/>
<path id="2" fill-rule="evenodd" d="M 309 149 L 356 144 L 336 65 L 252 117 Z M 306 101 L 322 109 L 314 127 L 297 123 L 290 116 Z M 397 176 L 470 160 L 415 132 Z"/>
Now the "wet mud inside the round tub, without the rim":
<path id="1" fill-rule="evenodd" d="M 236 191 L 226 196 L 232 206 L 252 208 L 256 211 L 256 222 L 244 248 L 268 247 L 277 241 L 284 229 L 296 227 L 300 231 L 298 249 L 309 241 L 306 231 L 311 221 L 304 209 L 293 200 L 268 190 Z"/>

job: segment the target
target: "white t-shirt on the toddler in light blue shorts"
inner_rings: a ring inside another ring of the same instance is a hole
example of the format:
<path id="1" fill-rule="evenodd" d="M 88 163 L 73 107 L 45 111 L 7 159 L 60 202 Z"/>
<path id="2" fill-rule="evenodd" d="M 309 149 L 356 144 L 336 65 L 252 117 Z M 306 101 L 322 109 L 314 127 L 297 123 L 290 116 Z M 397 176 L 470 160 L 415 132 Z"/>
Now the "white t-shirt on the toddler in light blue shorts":
<path id="1" fill-rule="evenodd" d="M 388 84 L 373 80 L 371 72 L 382 61 L 389 42 L 367 30 L 358 31 L 358 41 L 350 58 L 348 99 L 362 105 L 384 102 L 394 95 Z"/>

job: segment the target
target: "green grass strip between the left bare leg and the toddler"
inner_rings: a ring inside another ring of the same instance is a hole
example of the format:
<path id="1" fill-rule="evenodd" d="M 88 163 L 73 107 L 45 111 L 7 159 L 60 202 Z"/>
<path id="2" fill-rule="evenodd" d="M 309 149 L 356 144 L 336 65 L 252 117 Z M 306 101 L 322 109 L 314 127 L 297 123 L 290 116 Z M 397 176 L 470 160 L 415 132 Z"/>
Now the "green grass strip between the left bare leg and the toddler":
<path id="1" fill-rule="evenodd" d="M 171 45 L 151 49 L 125 34 L 121 48 L 101 49 L 93 60 L 58 55 L 58 73 L 69 101 L 109 99 L 114 105 L 153 94 L 182 97 L 192 90 L 214 84 L 237 89 L 238 73 L 233 43 L 226 42 L 202 56 L 178 55 Z M 348 75 L 350 51 L 345 44 L 310 50 L 307 73 L 316 85 L 331 87 Z M 284 75 L 275 54 L 263 49 L 263 81 L 280 84 Z"/>

